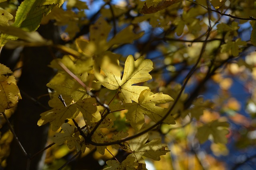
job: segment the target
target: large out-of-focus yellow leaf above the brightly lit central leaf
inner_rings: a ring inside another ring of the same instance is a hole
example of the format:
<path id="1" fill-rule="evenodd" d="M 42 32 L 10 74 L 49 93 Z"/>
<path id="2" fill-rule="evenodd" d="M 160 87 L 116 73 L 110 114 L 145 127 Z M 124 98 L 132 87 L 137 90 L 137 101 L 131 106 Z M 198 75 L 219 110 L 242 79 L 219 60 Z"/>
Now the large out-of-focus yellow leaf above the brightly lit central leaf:
<path id="1" fill-rule="evenodd" d="M 100 74 L 100 68 L 108 70 L 111 69 L 114 72 L 120 71 L 118 59 L 121 55 L 108 51 L 110 47 L 113 45 L 131 43 L 143 35 L 143 32 L 138 34 L 134 33 L 134 27 L 130 25 L 107 41 L 111 28 L 112 26 L 100 17 L 90 26 L 90 41 L 86 41 L 84 39 L 76 40 L 78 51 L 83 53 L 86 57 L 93 57 L 94 74 L 98 80 L 103 80 L 104 78 Z"/>

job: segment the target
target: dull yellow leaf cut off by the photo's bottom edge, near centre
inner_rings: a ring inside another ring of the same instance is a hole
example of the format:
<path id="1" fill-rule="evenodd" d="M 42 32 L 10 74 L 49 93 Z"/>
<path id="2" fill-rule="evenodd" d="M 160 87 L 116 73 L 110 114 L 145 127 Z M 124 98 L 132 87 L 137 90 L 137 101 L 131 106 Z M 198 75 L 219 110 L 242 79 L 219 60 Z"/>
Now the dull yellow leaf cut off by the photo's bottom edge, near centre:
<path id="1" fill-rule="evenodd" d="M 104 170 L 136 170 L 139 164 L 134 162 L 135 159 L 134 157 L 128 157 L 122 163 L 116 160 L 108 160 L 106 163 L 110 167 Z"/>

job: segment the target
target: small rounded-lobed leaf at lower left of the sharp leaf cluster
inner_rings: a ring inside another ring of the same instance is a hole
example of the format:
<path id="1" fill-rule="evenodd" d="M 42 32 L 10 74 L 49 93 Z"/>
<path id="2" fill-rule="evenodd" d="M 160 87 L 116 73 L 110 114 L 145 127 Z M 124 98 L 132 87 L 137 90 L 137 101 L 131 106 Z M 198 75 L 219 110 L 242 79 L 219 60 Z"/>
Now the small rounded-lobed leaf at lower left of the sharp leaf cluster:
<path id="1" fill-rule="evenodd" d="M 79 132 L 74 134 L 75 127 L 70 125 L 69 123 L 63 123 L 61 128 L 64 133 L 56 133 L 52 138 L 52 141 L 57 145 L 62 145 L 65 141 L 67 141 L 67 145 L 69 149 L 73 149 L 77 143 L 80 143 Z"/>

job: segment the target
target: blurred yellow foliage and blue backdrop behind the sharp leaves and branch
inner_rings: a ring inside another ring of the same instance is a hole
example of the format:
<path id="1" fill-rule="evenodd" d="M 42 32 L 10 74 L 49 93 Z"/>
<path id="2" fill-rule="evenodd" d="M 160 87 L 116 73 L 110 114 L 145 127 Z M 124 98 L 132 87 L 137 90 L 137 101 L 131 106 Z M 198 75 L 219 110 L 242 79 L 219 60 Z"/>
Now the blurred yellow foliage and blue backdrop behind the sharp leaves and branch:
<path id="1" fill-rule="evenodd" d="M 153 79 L 144 86 L 149 86 L 153 92 L 168 94 L 174 100 L 186 75 L 202 55 L 172 111 L 176 125 L 162 124 L 150 131 L 150 138 L 162 139 L 171 152 L 161 156 L 160 161 L 146 160 L 146 166 L 148 170 L 255 169 L 256 48 L 250 42 L 250 36 L 255 24 L 256 2 L 225 0 L 219 6 L 216 3 L 221 1 L 218 0 L 182 0 L 156 13 L 140 14 L 145 2 L 150 5 L 160 1 L 66 0 L 62 8 L 54 7 L 42 19 L 41 25 L 53 23 L 61 38 L 56 44 L 74 50 L 77 50 L 75 40 L 88 40 L 89 27 L 100 16 L 111 25 L 108 39 L 128 25 L 133 26 L 134 33 L 144 31 L 138 40 L 115 45 L 110 51 L 121 55 L 120 65 L 124 65 L 127 55 L 151 59 Z M 0 3 L 0 7 L 15 16 L 19 3 L 8 0 Z M 250 17 L 252 20 L 248 20 Z M 18 58 L 5 61 L 17 79 L 22 70 L 22 61 L 17 56 L 23 47 L 26 47 L 24 42 L 8 42 L 1 53 L 4 58 L 8 51 L 12 51 L 10 56 Z M 55 55 L 62 56 L 54 50 Z M 113 95 L 109 93 L 115 94 L 104 88 L 95 92 L 102 101 L 110 100 L 109 96 Z M 37 99 L 42 97 L 37 96 Z M 170 105 L 161 106 L 168 108 Z M 113 128 L 133 134 L 125 120 L 126 112 L 115 113 Z M 6 111 L 8 117 L 13 113 L 13 109 Z M 76 121 L 82 125 L 82 120 L 79 114 Z M 217 121 L 227 121 L 229 125 L 215 125 L 213 122 Z M 13 137 L 3 117 L 0 123 L 0 166 L 4 169 Z M 146 119 L 146 124 L 150 123 L 150 119 Z M 207 127 L 215 130 L 207 134 L 204 131 Z M 228 130 L 223 133 L 222 129 Z M 47 145 L 52 143 L 54 134 L 48 130 Z M 107 167 L 105 161 L 112 159 L 112 155 L 119 160 L 127 156 L 124 151 L 110 146 L 107 149 L 109 152 L 101 155 L 95 149 L 87 148 L 63 169 L 102 169 Z M 52 145 L 46 150 L 43 169 L 57 170 L 74 154 L 75 150 L 68 149 L 67 145 Z"/>

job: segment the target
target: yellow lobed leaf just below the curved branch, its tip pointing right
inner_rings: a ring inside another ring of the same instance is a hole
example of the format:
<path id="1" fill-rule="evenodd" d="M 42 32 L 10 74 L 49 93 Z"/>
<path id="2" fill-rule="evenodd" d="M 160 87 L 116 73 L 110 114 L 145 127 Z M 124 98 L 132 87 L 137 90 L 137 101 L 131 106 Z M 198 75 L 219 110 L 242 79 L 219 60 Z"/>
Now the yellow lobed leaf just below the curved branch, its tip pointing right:
<path id="1" fill-rule="evenodd" d="M 140 160 L 141 156 L 146 156 L 153 160 L 160 160 L 161 155 L 165 155 L 170 150 L 166 150 L 166 144 L 161 143 L 161 139 L 148 140 L 148 133 L 141 135 L 129 141 L 130 149 L 133 152 L 128 156 L 133 156 L 136 160 Z"/>

